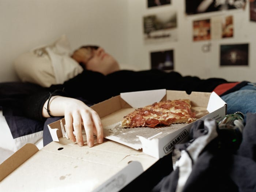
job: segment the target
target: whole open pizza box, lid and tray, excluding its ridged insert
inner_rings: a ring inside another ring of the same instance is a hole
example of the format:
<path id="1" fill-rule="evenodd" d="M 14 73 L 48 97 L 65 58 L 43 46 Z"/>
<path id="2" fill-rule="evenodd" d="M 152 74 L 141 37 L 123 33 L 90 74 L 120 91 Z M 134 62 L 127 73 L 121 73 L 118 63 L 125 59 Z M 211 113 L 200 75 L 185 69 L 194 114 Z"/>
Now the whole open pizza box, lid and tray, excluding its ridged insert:
<path id="1" fill-rule="evenodd" d="M 181 98 L 192 101 L 192 109 L 198 119 L 209 117 L 218 120 L 226 114 L 226 103 L 214 92 L 192 92 L 190 95 L 184 91 L 169 90 L 131 92 L 92 108 L 98 112 L 107 132 L 105 127 L 120 122 L 136 106 Z M 65 123 L 64 119 L 62 121 Z M 174 144 L 185 141 L 191 126 L 181 125 L 165 136 L 161 136 L 161 132 L 148 138 L 138 136 L 142 149 L 135 150 L 125 146 L 129 141 L 120 144 L 109 139 L 94 147 L 79 147 L 63 138 L 60 120 L 56 121 L 48 127 L 58 142 L 52 142 L 41 150 L 33 144 L 26 144 L 0 165 L 0 191 L 120 191 L 158 158 L 170 153 Z M 105 135 L 105 138 L 112 136 Z"/>

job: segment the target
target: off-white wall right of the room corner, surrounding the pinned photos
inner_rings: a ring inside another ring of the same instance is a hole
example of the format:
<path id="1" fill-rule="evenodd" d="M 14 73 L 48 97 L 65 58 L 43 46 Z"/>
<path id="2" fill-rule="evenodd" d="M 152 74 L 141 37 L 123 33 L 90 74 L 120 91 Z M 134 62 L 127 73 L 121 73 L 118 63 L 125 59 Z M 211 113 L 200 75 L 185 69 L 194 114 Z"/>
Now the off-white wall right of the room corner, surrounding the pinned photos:
<path id="1" fill-rule="evenodd" d="M 196 75 L 200 78 L 219 77 L 229 81 L 248 80 L 256 82 L 256 22 L 249 21 L 249 5 L 245 10 L 215 11 L 186 15 L 185 0 L 172 0 L 171 5 L 147 8 L 145 1 L 129 1 L 129 63 L 141 68 L 150 68 L 150 52 L 174 49 L 174 69 L 182 75 Z M 178 10 L 178 41 L 145 45 L 142 38 L 143 15 Z M 192 40 L 193 20 L 208 19 L 212 16 L 233 15 L 234 37 L 221 40 Z M 202 52 L 202 46 L 211 43 L 210 52 Z M 220 44 L 249 43 L 249 66 L 220 67 Z"/>

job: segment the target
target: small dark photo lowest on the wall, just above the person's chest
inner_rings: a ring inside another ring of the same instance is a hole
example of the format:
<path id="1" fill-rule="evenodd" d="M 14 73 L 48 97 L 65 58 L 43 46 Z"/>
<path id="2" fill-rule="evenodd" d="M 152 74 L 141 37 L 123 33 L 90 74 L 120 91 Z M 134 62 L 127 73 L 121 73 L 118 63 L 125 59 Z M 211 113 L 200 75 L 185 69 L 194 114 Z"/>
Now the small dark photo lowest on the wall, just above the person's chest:
<path id="1" fill-rule="evenodd" d="M 173 70 L 173 50 L 162 50 L 150 53 L 151 69 Z"/>

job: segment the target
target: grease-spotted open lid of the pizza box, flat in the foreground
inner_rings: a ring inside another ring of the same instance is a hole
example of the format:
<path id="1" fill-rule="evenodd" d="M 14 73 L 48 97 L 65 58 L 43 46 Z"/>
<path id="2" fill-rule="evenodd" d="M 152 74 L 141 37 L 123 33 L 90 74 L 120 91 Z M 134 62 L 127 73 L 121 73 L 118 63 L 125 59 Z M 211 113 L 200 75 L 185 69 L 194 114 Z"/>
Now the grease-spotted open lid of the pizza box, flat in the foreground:
<path id="1" fill-rule="evenodd" d="M 66 138 L 41 150 L 26 144 L 0 164 L 0 191 L 117 192 L 157 161 L 108 139 L 94 147 Z"/>

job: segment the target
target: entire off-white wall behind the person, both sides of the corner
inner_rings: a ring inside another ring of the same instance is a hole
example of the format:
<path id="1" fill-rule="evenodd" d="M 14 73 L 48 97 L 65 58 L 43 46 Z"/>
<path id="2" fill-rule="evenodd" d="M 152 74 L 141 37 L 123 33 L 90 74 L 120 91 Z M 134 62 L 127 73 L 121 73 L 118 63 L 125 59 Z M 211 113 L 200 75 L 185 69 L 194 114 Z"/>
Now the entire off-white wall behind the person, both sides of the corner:
<path id="1" fill-rule="evenodd" d="M 247 0 L 248 1 L 248 0 Z M 174 49 L 174 69 L 182 75 L 220 77 L 230 81 L 256 82 L 256 22 L 245 10 L 228 10 L 185 15 L 185 0 L 147 8 L 147 0 L 0 0 L 0 82 L 17 80 L 12 61 L 18 54 L 54 41 L 66 34 L 72 49 L 98 44 L 124 65 L 149 69 L 150 52 Z M 142 17 L 177 10 L 178 41 L 145 45 Z M 233 15 L 234 37 L 192 41 L 192 21 L 212 16 Z M 210 52 L 202 46 L 211 43 Z M 219 66 L 220 44 L 249 43 L 249 66 Z"/>

